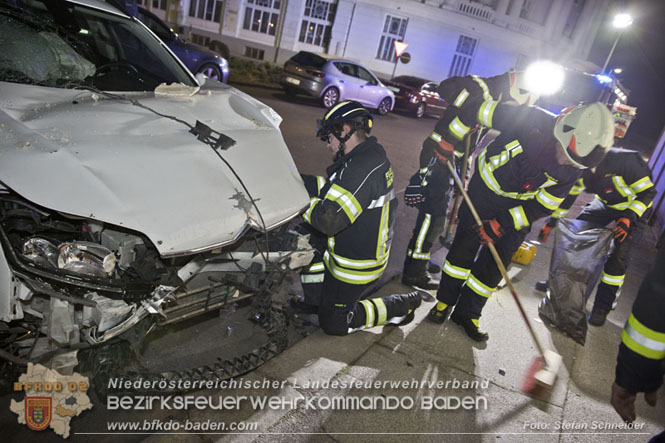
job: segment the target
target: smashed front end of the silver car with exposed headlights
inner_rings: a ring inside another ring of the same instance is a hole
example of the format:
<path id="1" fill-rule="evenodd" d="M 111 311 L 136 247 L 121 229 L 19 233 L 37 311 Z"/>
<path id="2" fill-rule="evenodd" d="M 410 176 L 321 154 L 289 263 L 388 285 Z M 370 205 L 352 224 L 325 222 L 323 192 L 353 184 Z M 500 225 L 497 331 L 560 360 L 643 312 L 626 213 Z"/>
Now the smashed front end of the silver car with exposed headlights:
<path id="1" fill-rule="evenodd" d="M 224 352 L 188 370 L 199 378 L 251 370 L 286 348 L 275 296 L 286 294 L 292 271 L 313 257 L 307 238 L 284 225 L 267 234 L 250 230 L 224 248 L 163 258 L 140 233 L 35 207 L 11 192 L 0 194 L 0 246 L 8 294 L 0 300 L 0 356 L 63 374 L 79 365 L 82 349 L 126 343 L 140 358 L 152 331 L 191 327 L 243 306 L 245 320 L 264 336 L 235 346 L 253 338 L 220 333 Z M 125 370 L 125 362 L 112 360 L 103 367 L 104 358 L 94 359 L 92 371 Z M 160 374 L 184 369 L 151 366 Z"/>

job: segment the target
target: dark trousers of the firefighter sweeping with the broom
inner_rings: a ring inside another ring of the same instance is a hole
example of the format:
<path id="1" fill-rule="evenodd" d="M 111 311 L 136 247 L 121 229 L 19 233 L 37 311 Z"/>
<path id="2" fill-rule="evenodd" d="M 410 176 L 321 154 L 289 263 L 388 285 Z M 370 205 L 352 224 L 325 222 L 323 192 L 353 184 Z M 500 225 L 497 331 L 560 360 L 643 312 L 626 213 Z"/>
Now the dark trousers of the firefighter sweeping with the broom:
<path id="1" fill-rule="evenodd" d="M 478 177 L 479 174 L 475 174 L 471 178 L 469 196 L 481 219 L 494 219 L 501 211 L 507 211 L 519 204 L 512 199 L 496 196 Z M 455 238 L 443 264 L 436 298 L 447 305 L 456 305 L 455 310 L 459 315 L 477 319 L 501 281 L 501 272 L 489 248 L 481 248 L 480 239 L 473 230 L 475 224 L 469 207 L 464 202 L 460 207 Z M 528 232 L 528 229 L 516 231 L 504 227 L 503 237 L 494 244 L 504 266 L 508 267 Z"/>

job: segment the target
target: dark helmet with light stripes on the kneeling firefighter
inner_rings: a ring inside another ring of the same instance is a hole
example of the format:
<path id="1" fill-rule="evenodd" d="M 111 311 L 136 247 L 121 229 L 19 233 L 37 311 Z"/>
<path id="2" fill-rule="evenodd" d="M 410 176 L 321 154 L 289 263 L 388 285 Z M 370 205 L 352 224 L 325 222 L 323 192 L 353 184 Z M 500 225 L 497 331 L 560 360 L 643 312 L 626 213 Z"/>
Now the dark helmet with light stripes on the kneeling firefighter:
<path id="1" fill-rule="evenodd" d="M 372 130 L 372 115 L 360 103 L 355 101 L 344 101 L 326 111 L 321 120 L 317 120 L 316 136 L 324 142 L 328 141 L 328 135 L 333 134 L 341 143 L 346 142 L 351 135 L 360 128 L 369 134 Z M 350 123 L 351 131 L 342 137 L 342 125 Z"/>

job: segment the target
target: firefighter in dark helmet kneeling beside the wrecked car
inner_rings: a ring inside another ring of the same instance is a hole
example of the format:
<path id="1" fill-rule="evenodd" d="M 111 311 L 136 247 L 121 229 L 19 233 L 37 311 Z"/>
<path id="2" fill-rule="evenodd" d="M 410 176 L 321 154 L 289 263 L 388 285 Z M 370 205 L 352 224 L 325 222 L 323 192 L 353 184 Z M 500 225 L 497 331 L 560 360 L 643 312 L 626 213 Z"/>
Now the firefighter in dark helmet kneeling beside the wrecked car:
<path id="1" fill-rule="evenodd" d="M 319 324 L 331 335 L 410 321 L 421 303 L 417 292 L 360 300 L 388 264 L 397 209 L 393 169 L 376 138 L 368 137 L 371 128 L 371 115 L 357 102 L 327 111 L 317 136 L 334 163 L 327 179 L 303 175 L 311 197 L 303 218 L 319 250 L 301 274 L 305 304 L 317 307 Z"/>

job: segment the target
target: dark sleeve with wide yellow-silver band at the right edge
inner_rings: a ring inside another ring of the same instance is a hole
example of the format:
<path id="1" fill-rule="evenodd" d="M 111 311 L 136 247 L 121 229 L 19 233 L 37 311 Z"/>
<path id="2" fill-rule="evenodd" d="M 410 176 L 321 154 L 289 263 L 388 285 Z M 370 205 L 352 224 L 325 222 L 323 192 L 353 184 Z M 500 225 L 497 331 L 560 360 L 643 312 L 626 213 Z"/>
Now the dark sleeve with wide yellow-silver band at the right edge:
<path id="1" fill-rule="evenodd" d="M 616 383 L 631 392 L 651 392 L 665 372 L 665 248 L 644 278 L 621 333 Z"/>

